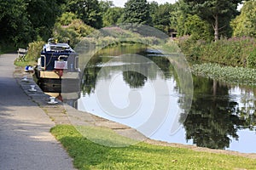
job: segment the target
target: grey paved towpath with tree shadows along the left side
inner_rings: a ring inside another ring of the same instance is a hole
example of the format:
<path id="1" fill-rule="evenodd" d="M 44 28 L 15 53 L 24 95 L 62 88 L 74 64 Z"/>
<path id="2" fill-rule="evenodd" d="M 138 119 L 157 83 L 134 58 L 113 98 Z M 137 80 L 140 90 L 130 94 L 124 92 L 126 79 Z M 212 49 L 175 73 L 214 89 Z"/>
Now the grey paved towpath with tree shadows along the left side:
<path id="1" fill-rule="evenodd" d="M 15 58 L 0 55 L 0 169 L 73 169 L 72 159 L 49 133 L 55 122 L 14 77 Z"/>

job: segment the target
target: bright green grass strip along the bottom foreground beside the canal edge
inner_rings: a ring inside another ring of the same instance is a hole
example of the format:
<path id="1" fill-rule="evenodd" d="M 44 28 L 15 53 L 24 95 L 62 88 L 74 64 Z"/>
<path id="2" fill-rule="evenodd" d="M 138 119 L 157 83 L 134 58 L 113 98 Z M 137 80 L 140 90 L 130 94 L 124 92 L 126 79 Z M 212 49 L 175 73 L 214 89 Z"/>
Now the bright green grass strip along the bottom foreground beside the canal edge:
<path id="1" fill-rule="evenodd" d="M 113 148 L 84 138 L 71 125 L 51 129 L 79 169 L 256 169 L 255 159 L 139 143 Z"/>

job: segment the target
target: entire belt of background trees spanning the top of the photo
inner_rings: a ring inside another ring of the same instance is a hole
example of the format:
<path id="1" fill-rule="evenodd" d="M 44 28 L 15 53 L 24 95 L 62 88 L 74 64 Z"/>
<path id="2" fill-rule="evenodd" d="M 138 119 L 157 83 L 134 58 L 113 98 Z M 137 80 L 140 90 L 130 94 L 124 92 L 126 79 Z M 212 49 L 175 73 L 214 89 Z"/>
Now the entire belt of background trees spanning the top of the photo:
<path id="1" fill-rule="evenodd" d="M 237 5 L 241 1 L 178 0 L 174 4 L 158 4 L 128 0 L 125 8 L 118 8 L 109 0 L 0 0 L 0 46 L 9 43 L 26 47 L 34 40 L 46 41 L 54 36 L 56 23 L 69 26 L 78 19 L 96 29 L 122 22 L 137 23 L 195 40 L 212 41 L 214 37 L 217 40 L 232 35 L 255 37 L 255 1 L 244 1 L 240 14 Z"/>

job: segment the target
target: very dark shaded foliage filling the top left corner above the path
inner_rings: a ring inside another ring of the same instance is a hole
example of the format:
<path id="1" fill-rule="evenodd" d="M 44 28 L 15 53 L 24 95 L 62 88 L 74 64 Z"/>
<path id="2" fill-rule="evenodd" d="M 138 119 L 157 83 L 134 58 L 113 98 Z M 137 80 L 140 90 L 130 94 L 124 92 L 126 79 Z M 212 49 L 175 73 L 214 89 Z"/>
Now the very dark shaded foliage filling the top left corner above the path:
<path id="1" fill-rule="evenodd" d="M 60 1 L 1 0 L 0 42 L 26 47 L 28 42 L 48 39 L 55 18 L 60 14 Z"/>

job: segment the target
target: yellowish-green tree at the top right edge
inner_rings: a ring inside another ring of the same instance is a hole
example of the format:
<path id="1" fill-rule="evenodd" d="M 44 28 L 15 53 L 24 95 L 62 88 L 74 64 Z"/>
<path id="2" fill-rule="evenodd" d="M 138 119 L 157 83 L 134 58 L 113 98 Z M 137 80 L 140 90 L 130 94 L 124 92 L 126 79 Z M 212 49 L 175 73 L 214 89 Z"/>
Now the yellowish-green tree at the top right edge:
<path id="1" fill-rule="evenodd" d="M 231 21 L 233 36 L 256 37 L 256 1 L 251 0 L 244 3 L 241 14 Z"/>

